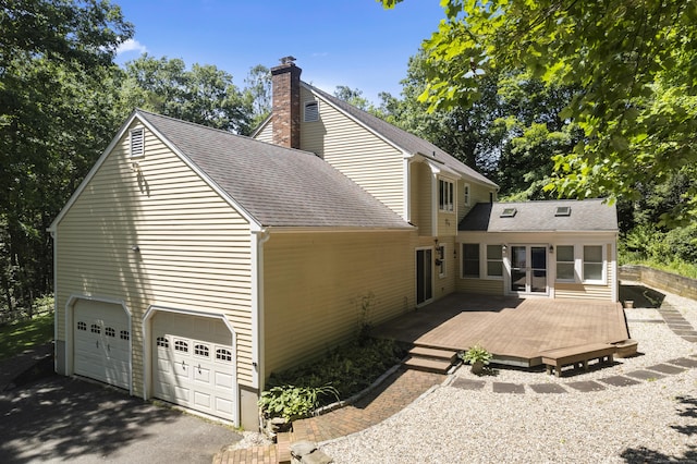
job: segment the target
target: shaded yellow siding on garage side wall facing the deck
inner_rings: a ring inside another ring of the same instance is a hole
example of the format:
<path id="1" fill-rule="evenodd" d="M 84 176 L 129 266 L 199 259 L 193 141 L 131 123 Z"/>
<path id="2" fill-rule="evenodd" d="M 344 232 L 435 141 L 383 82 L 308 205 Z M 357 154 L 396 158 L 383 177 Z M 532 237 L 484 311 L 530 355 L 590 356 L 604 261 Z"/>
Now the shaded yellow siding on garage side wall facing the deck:
<path id="1" fill-rule="evenodd" d="M 360 298 L 371 325 L 415 306 L 409 232 L 276 233 L 264 245 L 265 374 L 354 337 Z"/>

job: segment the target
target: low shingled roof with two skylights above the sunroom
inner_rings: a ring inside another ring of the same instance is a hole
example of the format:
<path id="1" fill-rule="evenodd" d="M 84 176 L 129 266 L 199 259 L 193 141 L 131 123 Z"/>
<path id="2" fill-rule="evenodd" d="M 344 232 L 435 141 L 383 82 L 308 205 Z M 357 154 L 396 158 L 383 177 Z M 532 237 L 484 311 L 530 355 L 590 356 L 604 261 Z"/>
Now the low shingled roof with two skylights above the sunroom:
<path id="1" fill-rule="evenodd" d="M 614 205 L 603 203 L 602 199 L 478 203 L 463 218 L 457 230 L 484 232 L 616 232 L 617 211 Z"/>

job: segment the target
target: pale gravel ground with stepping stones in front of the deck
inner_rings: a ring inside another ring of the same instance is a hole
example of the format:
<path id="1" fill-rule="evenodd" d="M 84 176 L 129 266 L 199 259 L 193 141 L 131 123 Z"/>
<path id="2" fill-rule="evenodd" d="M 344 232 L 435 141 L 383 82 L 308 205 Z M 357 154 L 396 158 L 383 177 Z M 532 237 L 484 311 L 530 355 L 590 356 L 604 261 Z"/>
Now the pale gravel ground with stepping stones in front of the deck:
<path id="1" fill-rule="evenodd" d="M 667 294 L 664 304 L 697 328 L 697 302 Z M 603 383 L 594 392 L 568 386 L 697 354 L 697 343 L 670 330 L 657 309 L 626 314 L 638 356 L 562 378 L 509 368 L 476 377 L 461 368 L 399 414 L 321 449 L 337 464 L 697 462 L 697 368 L 627 387 Z M 467 380 L 485 384 L 457 387 Z M 500 382 L 523 384 L 524 393 L 494 392 L 493 383 Z M 563 392 L 538 393 L 530 387 L 540 383 L 559 383 L 552 390 Z"/>

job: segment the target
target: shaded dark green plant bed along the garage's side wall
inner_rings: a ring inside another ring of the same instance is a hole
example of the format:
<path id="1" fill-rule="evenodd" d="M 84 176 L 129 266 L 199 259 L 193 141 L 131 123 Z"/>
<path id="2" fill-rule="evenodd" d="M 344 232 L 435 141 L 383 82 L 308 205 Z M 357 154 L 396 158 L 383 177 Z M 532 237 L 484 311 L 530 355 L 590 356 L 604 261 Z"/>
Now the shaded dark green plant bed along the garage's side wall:
<path id="1" fill-rule="evenodd" d="M 339 346 L 322 358 L 282 373 L 272 373 L 268 388 L 299 386 L 337 389 L 340 398 L 350 398 L 369 387 L 381 374 L 398 364 L 405 351 L 390 340 L 369 339 Z"/>

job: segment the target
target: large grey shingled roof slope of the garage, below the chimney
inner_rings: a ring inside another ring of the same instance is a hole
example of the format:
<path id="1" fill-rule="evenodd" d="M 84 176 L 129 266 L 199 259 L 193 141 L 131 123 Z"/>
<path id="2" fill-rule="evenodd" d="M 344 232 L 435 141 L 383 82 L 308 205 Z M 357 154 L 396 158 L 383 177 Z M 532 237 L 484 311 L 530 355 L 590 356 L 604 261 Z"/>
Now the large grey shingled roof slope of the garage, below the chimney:
<path id="1" fill-rule="evenodd" d="M 314 154 L 136 110 L 264 227 L 411 229 Z"/>

